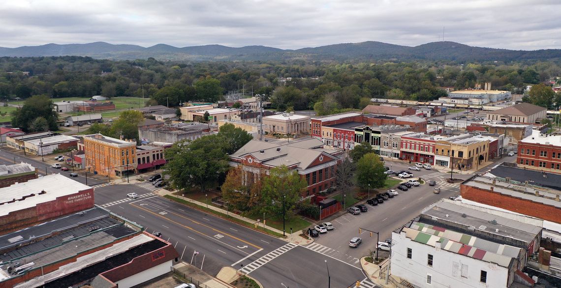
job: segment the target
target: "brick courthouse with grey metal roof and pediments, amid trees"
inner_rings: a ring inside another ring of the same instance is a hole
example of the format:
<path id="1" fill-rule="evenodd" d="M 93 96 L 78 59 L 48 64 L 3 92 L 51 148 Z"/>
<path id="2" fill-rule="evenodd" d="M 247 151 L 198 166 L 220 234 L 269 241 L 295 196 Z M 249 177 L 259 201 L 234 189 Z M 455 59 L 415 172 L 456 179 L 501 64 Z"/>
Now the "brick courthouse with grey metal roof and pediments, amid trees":
<path id="1" fill-rule="evenodd" d="M 252 173 L 252 179 L 258 179 L 268 170 L 286 165 L 306 179 L 308 187 L 302 197 L 317 194 L 335 185 L 335 173 L 341 154 L 339 150 L 327 150 L 324 143 L 316 138 L 294 142 L 264 142 L 251 140 L 240 150 L 230 155 L 231 166 L 243 165 L 243 169 Z"/>

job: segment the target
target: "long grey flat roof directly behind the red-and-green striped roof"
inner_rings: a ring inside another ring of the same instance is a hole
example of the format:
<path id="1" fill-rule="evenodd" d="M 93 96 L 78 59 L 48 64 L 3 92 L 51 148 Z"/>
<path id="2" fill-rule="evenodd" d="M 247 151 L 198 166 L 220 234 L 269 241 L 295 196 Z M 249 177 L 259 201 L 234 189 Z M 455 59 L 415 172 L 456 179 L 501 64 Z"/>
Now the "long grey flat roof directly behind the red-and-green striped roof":
<path id="1" fill-rule="evenodd" d="M 475 210 L 456 202 L 438 202 L 421 212 L 421 216 L 421 219 L 429 219 L 443 225 L 450 222 L 465 226 L 466 230 L 468 227 L 473 227 L 474 231 L 485 231 L 486 234 L 518 239 L 527 244 L 530 244 L 541 231 L 541 227 Z M 496 224 L 493 224 L 493 220 Z"/>

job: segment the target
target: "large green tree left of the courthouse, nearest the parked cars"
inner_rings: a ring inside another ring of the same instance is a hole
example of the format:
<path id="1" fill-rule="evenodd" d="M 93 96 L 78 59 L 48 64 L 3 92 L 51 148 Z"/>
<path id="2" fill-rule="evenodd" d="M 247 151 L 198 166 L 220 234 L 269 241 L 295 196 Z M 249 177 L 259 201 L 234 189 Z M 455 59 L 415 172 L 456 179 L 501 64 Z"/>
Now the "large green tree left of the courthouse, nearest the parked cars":
<path id="1" fill-rule="evenodd" d="M 201 192 L 228 170 L 226 143 L 218 135 L 207 135 L 191 142 L 181 141 L 165 150 L 164 174 L 176 189 L 188 190 L 198 185 Z"/>

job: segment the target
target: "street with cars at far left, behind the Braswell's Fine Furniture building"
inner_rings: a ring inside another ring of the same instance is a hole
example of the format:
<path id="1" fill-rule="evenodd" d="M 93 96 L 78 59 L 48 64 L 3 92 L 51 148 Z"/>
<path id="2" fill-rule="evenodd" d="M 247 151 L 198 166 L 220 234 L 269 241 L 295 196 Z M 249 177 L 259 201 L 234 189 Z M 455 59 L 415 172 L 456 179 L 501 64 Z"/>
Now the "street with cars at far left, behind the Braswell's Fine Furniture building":
<path id="1" fill-rule="evenodd" d="M 50 166 L 50 163 L 61 163 L 62 164 L 62 162 L 56 162 L 56 161 L 53 160 L 53 157 L 56 156 L 56 155 L 44 156 L 45 162 L 42 162 L 42 161 L 32 159 L 30 157 L 26 157 L 24 155 L 20 155 L 20 154 L 8 151 L 7 149 L 8 148 L 6 148 L 6 149 L 0 148 L 0 164 L 11 165 L 11 164 L 14 164 L 14 163 L 26 162 L 26 163 L 29 163 L 29 164 L 33 165 L 35 168 L 37 168 L 39 175 L 60 173 L 61 175 L 65 175 L 68 178 L 76 180 L 77 182 L 80 182 L 82 184 L 86 184 L 85 173 L 83 173 L 83 172 L 79 173 L 79 176 L 77 176 L 77 177 L 70 177 L 70 173 L 72 172 L 71 167 L 70 167 L 70 171 L 61 171 L 61 169 L 52 168 Z M 95 185 L 99 185 L 99 184 L 106 183 L 106 182 L 108 182 L 107 178 L 99 177 L 99 176 L 94 177 L 93 174 L 88 173 L 88 185 L 95 186 Z"/>

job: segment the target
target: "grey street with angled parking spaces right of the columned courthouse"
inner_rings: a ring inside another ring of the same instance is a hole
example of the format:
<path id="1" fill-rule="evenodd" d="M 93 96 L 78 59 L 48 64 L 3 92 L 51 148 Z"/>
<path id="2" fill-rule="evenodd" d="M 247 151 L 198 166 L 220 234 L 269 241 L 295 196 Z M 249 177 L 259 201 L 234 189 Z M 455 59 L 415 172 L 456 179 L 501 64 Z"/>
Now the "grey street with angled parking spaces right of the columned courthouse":
<path id="1" fill-rule="evenodd" d="M 385 165 L 394 171 L 407 170 L 410 166 L 407 163 L 393 161 L 385 161 Z M 384 203 L 380 203 L 376 206 L 368 205 L 365 199 L 357 204 L 366 205 L 368 208 L 367 212 L 362 212 L 358 215 L 345 213 L 342 216 L 330 220 L 334 229 L 314 238 L 314 243 L 308 245 L 307 248 L 325 254 L 328 257 L 360 266 L 358 259 L 362 256 L 366 256 L 370 251 L 375 251 L 376 247 L 376 234 L 373 233 L 371 237 L 370 232 L 367 230 L 378 232 L 379 241 L 384 241 L 391 237 L 393 230 L 398 229 L 398 227 L 419 215 L 422 208 L 429 206 L 440 198 L 456 196 L 459 192 L 459 184 L 445 182 L 445 179 L 449 178 L 450 174 L 443 174 L 434 169 L 421 169 L 421 171 L 411 172 L 413 173 L 413 178 L 408 179 L 421 177 L 424 181 L 435 180 L 436 185 L 432 187 L 425 183 L 419 185 L 419 187 L 412 187 L 408 189 L 408 191 L 398 190 L 399 194 L 397 196 L 389 198 L 385 200 Z M 469 175 L 454 174 L 455 178 L 467 178 L 468 176 Z M 403 179 L 403 181 L 407 181 L 408 179 Z M 433 193 L 435 187 L 441 189 L 439 194 Z M 379 192 L 381 191 L 371 189 L 370 198 L 374 197 L 376 193 Z M 360 235 L 358 234 L 359 228 L 362 229 Z M 362 238 L 362 243 L 358 245 L 357 248 L 350 247 L 348 245 L 349 241 L 356 236 Z M 387 255 L 388 252 L 383 250 L 379 251 L 380 257 L 387 257 Z"/>

